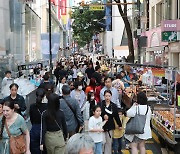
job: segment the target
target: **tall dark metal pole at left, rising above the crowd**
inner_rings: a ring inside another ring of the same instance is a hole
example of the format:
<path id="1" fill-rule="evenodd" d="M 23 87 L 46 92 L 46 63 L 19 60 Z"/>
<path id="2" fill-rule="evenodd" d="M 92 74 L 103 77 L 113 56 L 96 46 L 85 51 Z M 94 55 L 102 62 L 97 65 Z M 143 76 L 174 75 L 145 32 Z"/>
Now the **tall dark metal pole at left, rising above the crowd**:
<path id="1" fill-rule="evenodd" d="M 49 0 L 49 61 L 50 61 L 50 72 L 52 73 L 52 51 L 51 51 L 51 0 Z"/>

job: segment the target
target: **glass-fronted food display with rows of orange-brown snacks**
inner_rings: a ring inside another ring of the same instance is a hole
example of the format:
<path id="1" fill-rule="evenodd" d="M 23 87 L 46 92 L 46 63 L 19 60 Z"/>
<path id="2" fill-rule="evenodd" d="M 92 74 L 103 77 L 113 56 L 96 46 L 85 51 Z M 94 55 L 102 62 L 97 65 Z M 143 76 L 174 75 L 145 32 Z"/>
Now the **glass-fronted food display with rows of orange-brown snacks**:
<path id="1" fill-rule="evenodd" d="M 160 138 L 171 145 L 180 142 L 180 110 L 174 110 L 173 106 L 156 104 L 151 122 Z"/>

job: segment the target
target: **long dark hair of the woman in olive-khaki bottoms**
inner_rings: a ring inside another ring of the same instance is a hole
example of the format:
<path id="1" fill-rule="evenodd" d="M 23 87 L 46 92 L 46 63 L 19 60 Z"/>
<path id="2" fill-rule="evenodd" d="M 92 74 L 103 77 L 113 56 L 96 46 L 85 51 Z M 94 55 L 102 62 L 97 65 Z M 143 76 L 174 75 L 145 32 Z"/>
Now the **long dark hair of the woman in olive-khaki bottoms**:
<path id="1" fill-rule="evenodd" d="M 59 110 L 59 107 L 59 96 L 54 93 L 50 94 L 47 104 L 47 119 L 49 121 L 54 121 L 56 119 L 56 112 Z"/>

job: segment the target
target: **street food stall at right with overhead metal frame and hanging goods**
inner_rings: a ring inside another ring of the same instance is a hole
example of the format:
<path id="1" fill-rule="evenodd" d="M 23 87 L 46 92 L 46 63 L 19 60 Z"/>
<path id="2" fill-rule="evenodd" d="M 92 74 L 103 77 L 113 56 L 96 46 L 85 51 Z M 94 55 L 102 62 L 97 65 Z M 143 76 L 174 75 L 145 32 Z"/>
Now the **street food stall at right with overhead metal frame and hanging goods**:
<path id="1" fill-rule="evenodd" d="M 117 62 L 114 64 L 143 67 L 142 86 L 136 86 L 136 91 L 131 87 L 125 90 L 126 97 L 124 97 L 124 99 L 126 99 L 126 103 L 128 102 L 126 105 L 132 105 L 132 97 L 129 96 L 130 94 L 136 94 L 139 91 L 145 92 L 148 98 L 148 104 L 152 109 L 151 124 L 154 132 L 158 135 L 161 144 L 166 143 L 166 145 L 173 147 L 174 151 L 179 152 L 180 95 L 177 93 L 176 85 L 177 82 L 180 83 L 180 73 L 173 67 L 130 63 L 123 64 Z M 147 74 L 147 70 L 151 72 Z M 153 76 L 151 76 L 151 74 Z M 159 80 L 162 77 L 167 80 L 164 88 L 162 88 L 163 83 Z M 134 85 L 136 84 L 137 83 Z M 166 94 L 164 95 L 164 93 Z"/>

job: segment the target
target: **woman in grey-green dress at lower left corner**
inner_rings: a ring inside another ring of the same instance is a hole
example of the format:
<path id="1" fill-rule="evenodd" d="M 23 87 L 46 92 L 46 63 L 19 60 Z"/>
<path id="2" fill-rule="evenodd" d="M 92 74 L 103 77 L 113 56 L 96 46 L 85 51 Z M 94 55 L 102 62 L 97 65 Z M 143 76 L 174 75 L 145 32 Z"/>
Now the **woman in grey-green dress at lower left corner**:
<path id="1" fill-rule="evenodd" d="M 7 126 L 7 127 L 6 127 Z M 3 103 L 3 116 L 0 119 L 0 140 L 1 154 L 10 154 L 9 135 L 20 136 L 24 134 L 26 144 L 26 154 L 30 154 L 30 137 L 24 118 L 15 112 L 15 104 L 13 101 L 5 101 Z M 8 135 L 8 130 L 9 135 Z"/>

